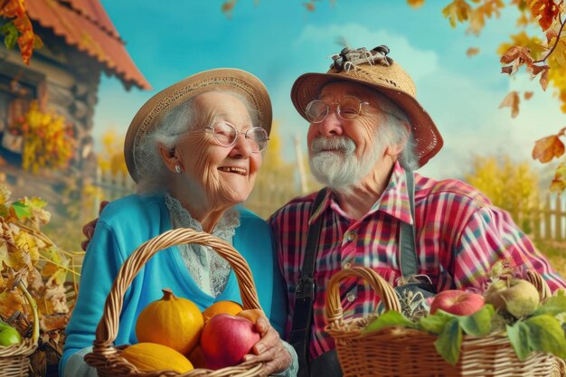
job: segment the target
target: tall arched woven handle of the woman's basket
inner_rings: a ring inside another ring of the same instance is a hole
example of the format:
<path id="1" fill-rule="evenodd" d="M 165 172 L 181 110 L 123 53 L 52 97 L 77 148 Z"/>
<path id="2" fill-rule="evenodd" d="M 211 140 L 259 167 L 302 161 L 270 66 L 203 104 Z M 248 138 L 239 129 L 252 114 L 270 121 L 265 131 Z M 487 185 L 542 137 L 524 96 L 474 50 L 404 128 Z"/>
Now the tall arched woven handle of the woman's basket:
<path id="1" fill-rule="evenodd" d="M 165 233 L 147 240 L 139 246 L 119 269 L 104 304 L 104 311 L 97 327 L 96 339 L 93 342 L 93 353 L 116 353 L 116 349 L 111 345 L 118 335 L 118 320 L 124 305 L 124 293 L 147 260 L 151 259 L 159 250 L 185 243 L 209 246 L 218 252 L 223 259 L 228 261 L 236 274 L 244 309 L 261 309 L 250 266 L 229 243 L 209 233 L 193 231 L 188 228 L 165 231 Z"/>

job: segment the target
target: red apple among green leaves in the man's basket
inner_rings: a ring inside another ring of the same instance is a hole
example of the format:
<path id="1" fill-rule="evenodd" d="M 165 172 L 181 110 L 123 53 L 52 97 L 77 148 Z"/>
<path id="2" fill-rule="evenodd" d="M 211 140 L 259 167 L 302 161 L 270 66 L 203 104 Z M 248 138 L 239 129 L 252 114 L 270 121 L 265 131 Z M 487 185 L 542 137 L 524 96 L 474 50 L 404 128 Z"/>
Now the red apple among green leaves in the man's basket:
<path id="1" fill-rule="evenodd" d="M 455 316 L 470 316 L 484 306 L 484 297 L 474 292 L 449 289 L 440 292 L 430 304 L 430 313 L 441 309 Z"/>

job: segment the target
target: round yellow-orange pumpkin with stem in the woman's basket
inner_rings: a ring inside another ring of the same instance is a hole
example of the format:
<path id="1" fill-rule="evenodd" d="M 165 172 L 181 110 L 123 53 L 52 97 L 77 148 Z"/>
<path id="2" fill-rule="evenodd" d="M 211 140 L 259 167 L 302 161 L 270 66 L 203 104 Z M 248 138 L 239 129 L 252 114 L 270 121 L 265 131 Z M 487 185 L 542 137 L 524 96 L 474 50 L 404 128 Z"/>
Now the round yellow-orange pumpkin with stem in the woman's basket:
<path id="1" fill-rule="evenodd" d="M 140 343 L 157 343 L 183 354 L 199 342 L 203 315 L 193 301 L 176 297 L 169 288 L 163 297 L 146 306 L 137 317 L 136 335 Z"/>

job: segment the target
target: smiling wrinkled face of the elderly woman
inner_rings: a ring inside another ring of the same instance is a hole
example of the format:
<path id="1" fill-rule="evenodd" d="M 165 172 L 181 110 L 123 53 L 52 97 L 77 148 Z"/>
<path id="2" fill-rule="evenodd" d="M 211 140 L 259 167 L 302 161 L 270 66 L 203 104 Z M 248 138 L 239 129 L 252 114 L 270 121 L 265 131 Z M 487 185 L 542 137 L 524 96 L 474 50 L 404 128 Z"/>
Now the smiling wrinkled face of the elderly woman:
<path id="1" fill-rule="evenodd" d="M 241 99 L 220 91 L 199 95 L 194 107 L 200 120 L 176 146 L 189 190 L 210 203 L 244 202 L 261 166 L 261 153 L 252 152 L 241 134 L 234 145 L 221 146 L 206 127 L 223 121 L 245 132 L 254 126 L 248 109 Z"/>

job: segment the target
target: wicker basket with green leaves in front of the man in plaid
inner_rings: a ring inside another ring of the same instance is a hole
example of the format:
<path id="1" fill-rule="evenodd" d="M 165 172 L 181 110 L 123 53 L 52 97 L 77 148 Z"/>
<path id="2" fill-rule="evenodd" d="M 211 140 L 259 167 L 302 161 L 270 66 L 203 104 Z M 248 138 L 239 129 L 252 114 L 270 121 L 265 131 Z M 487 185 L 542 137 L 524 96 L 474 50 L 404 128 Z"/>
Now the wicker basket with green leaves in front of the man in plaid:
<path id="1" fill-rule="evenodd" d="M 399 299 L 391 285 L 373 269 L 344 269 L 330 279 L 326 296 L 326 331 L 335 339 L 344 377 L 566 375 L 564 362 L 551 354 L 532 353 L 528 359 L 519 361 L 503 334 L 482 337 L 464 335 L 460 357 L 454 366 L 437 353 L 433 344 L 436 335 L 398 326 L 362 335 L 363 328 L 376 314 L 344 320 L 339 287 L 344 278 L 352 277 L 366 280 L 382 298 L 387 310 L 401 311 Z M 550 295 L 548 286 L 538 274 L 530 272 L 528 278 L 539 289 L 542 299 Z"/>

